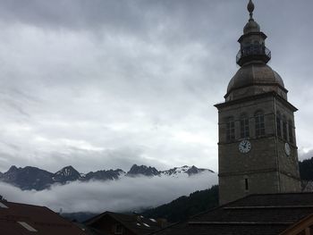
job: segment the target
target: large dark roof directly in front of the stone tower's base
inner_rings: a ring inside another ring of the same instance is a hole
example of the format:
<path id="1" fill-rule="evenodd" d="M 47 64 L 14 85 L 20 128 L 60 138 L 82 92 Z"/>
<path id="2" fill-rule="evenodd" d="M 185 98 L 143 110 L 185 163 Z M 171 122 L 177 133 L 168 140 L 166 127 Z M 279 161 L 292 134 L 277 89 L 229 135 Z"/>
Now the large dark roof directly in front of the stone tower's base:
<path id="1" fill-rule="evenodd" d="M 156 235 L 274 235 L 313 214 L 313 193 L 250 195 Z"/>

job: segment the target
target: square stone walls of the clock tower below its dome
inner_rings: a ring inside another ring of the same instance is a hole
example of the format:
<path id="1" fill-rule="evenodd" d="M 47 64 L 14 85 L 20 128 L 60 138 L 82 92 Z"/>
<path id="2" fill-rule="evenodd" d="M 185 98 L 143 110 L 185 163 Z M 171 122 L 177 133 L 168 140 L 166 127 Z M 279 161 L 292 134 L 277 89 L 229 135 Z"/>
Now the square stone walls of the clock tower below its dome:
<path id="1" fill-rule="evenodd" d="M 219 109 L 219 188 L 220 203 L 224 204 L 248 194 L 280 193 L 300 191 L 298 155 L 295 141 L 291 155 L 286 155 L 286 140 L 276 134 L 276 110 L 288 120 L 293 112 L 288 102 L 277 99 L 274 93 L 250 97 L 236 102 L 224 103 Z M 262 111 L 265 115 L 265 135 L 255 135 L 254 114 Z M 245 113 L 250 119 L 251 149 L 247 154 L 239 151 L 240 116 Z M 235 138 L 226 139 L 226 120 L 233 117 Z M 292 130 L 294 131 L 294 130 Z M 295 135 L 293 135 L 295 138 Z M 246 180 L 248 188 L 246 189 Z"/>

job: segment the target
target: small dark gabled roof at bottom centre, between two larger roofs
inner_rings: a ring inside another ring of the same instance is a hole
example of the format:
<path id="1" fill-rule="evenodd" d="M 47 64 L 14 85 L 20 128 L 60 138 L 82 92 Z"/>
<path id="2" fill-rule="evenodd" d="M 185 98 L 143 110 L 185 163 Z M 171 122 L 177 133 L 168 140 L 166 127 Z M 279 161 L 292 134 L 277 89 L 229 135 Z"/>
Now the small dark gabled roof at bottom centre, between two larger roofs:
<path id="1" fill-rule="evenodd" d="M 105 212 L 103 214 L 98 214 L 85 223 L 92 227 L 94 222 L 98 222 L 99 220 L 104 219 L 106 216 L 111 216 L 114 218 L 114 220 L 121 222 L 127 229 L 139 235 L 149 234 L 153 231 L 158 231 L 161 229 L 156 220 L 143 217 L 140 214 L 119 214 Z"/>

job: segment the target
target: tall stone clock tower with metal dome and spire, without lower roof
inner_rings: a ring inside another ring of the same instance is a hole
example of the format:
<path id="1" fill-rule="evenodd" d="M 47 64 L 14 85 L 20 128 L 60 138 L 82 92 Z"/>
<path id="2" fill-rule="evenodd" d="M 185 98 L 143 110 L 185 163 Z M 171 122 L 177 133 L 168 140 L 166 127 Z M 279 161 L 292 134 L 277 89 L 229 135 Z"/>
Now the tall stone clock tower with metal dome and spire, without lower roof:
<path id="1" fill-rule="evenodd" d="M 238 42 L 241 68 L 230 80 L 218 109 L 219 199 L 223 205 L 248 194 L 300 191 L 298 153 L 288 90 L 267 65 L 266 35 L 250 19 Z"/>

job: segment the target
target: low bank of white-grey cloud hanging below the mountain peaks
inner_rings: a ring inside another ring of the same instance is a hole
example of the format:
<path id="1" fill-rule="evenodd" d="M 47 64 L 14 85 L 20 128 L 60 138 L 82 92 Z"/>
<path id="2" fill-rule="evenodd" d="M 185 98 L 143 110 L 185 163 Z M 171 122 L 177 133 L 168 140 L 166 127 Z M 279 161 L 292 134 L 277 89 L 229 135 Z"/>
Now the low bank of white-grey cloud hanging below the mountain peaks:
<path id="1" fill-rule="evenodd" d="M 52 189 L 35 191 L 17 189 L 0 183 L 1 194 L 10 201 L 48 206 L 63 212 L 131 211 L 159 206 L 177 197 L 189 195 L 216 184 L 213 173 L 186 178 L 139 177 L 116 181 L 72 182 Z"/>

